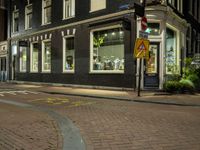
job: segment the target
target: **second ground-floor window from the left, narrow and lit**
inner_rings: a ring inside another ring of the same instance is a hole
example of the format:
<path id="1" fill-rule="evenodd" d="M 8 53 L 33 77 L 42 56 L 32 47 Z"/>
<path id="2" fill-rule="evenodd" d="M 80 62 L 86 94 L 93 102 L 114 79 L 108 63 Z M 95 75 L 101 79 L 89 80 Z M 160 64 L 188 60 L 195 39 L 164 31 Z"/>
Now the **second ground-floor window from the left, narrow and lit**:
<path id="1" fill-rule="evenodd" d="M 38 72 L 39 48 L 38 43 L 31 44 L 31 72 Z"/>

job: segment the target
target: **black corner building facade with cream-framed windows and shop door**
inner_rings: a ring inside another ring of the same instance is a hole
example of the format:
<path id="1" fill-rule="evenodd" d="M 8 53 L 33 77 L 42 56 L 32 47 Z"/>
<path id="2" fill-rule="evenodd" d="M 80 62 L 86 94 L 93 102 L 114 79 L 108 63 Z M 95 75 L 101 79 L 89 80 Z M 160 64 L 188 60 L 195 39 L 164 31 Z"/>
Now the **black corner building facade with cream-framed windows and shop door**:
<path id="1" fill-rule="evenodd" d="M 140 18 L 119 9 L 134 2 L 140 1 L 10 0 L 10 80 L 135 88 Z M 162 89 L 170 63 L 180 67 L 186 56 L 187 5 L 178 2 L 147 1 L 154 61 L 143 62 L 142 88 Z"/>

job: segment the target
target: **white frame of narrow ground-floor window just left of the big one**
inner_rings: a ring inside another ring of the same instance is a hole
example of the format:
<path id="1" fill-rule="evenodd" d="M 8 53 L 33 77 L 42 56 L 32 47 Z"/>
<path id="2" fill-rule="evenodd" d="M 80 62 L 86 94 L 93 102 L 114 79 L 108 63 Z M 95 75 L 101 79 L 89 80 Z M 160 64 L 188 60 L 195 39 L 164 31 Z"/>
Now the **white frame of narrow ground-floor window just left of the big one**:
<path id="1" fill-rule="evenodd" d="M 74 73 L 75 72 L 75 53 L 76 53 L 76 50 L 75 50 L 75 47 L 74 47 L 74 69 L 73 70 L 66 70 L 65 69 L 65 62 L 66 62 L 66 57 L 65 57 L 65 54 L 66 54 L 66 39 L 67 38 L 75 38 L 74 35 L 68 35 L 68 36 L 64 36 L 63 37 L 63 73 Z M 75 40 L 74 40 L 74 44 L 75 44 Z"/>

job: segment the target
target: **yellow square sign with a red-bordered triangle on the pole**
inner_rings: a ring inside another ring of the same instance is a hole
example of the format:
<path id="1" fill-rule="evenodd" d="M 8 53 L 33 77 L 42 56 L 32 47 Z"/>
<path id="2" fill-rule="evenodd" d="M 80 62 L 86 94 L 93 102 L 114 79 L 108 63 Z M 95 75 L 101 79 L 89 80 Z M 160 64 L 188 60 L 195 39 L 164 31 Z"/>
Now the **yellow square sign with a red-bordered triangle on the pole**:
<path id="1" fill-rule="evenodd" d="M 137 38 L 134 48 L 134 56 L 136 58 L 148 58 L 149 56 L 149 40 Z"/>

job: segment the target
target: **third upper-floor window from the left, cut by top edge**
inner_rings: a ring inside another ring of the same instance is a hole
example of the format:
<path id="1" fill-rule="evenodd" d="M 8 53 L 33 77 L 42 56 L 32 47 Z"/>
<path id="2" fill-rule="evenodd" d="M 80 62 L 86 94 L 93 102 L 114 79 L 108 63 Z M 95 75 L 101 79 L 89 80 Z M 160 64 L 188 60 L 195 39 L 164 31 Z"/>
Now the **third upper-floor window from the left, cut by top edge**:
<path id="1" fill-rule="evenodd" d="M 42 1 L 42 24 L 51 23 L 51 0 Z"/>

